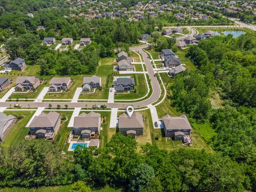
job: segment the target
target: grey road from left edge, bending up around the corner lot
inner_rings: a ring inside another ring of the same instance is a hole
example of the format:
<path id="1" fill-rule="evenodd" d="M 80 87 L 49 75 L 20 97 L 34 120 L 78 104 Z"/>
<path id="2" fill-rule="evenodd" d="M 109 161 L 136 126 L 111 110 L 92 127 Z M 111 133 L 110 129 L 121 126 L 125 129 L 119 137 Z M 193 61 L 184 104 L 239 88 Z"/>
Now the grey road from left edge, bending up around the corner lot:
<path id="1" fill-rule="evenodd" d="M 57 107 L 57 105 L 60 105 L 61 107 L 65 107 L 65 105 L 68 105 L 68 107 L 87 107 L 90 108 L 92 105 L 106 105 L 107 108 L 126 108 L 127 106 L 133 106 L 134 108 L 138 107 L 145 107 L 147 105 L 150 105 L 151 103 L 154 103 L 158 100 L 158 98 L 161 95 L 161 87 L 157 81 L 157 78 L 154 77 L 154 70 L 151 66 L 150 60 L 148 58 L 148 55 L 142 51 L 142 49 L 147 48 L 148 45 L 143 45 L 139 47 L 132 47 L 131 50 L 138 51 L 146 64 L 148 75 L 150 77 L 151 86 L 153 88 L 153 93 L 148 99 L 145 99 L 143 101 L 139 102 L 129 102 L 129 103 L 104 103 L 104 102 L 0 102 L 0 107 L 9 107 L 10 105 L 13 106 L 17 103 L 20 103 L 22 107 L 48 107 L 49 103 L 51 103 L 52 107 Z M 146 89 L 146 87 L 145 87 Z"/>

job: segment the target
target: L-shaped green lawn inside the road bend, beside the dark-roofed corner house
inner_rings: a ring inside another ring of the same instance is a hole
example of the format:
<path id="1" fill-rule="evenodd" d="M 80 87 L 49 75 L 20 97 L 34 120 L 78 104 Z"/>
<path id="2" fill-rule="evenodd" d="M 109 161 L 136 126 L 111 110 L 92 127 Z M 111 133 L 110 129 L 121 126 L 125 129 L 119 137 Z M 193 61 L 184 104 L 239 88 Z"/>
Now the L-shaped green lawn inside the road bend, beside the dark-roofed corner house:
<path id="1" fill-rule="evenodd" d="M 119 93 L 115 95 L 115 99 L 138 99 L 147 94 L 147 85 L 144 74 L 133 75 L 135 81 L 135 89 L 137 93 L 130 91 L 130 93 Z"/>

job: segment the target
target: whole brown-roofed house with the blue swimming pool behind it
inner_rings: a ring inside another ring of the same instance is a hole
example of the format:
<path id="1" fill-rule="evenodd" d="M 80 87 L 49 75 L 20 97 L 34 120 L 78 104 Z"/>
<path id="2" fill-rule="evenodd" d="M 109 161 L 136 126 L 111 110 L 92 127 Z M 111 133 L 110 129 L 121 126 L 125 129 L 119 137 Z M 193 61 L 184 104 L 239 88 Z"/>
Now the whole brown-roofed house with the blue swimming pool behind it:
<path id="1" fill-rule="evenodd" d="M 74 118 L 72 133 L 81 135 L 83 138 L 98 139 L 100 134 L 101 118 L 99 113 L 91 111 L 89 114 L 82 113 Z M 96 137 L 95 137 L 96 136 Z"/>

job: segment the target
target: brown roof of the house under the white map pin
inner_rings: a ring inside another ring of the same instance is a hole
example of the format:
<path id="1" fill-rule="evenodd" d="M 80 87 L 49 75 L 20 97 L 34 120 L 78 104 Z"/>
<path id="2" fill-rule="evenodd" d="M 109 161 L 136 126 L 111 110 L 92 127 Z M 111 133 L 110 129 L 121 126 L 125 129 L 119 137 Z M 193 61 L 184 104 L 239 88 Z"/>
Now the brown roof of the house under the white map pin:
<path id="1" fill-rule="evenodd" d="M 143 128 L 143 116 L 138 112 L 134 112 L 131 117 L 129 117 L 126 113 L 123 113 L 119 116 L 118 127 Z"/>

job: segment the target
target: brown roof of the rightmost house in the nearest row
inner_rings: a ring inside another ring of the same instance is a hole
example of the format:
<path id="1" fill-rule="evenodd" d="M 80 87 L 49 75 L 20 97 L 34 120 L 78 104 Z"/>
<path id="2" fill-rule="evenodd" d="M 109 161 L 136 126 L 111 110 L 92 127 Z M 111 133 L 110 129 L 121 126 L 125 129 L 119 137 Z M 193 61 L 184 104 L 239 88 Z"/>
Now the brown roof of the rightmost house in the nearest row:
<path id="1" fill-rule="evenodd" d="M 163 122 L 166 130 L 191 130 L 192 127 L 186 115 L 179 117 L 171 117 L 170 115 L 163 116 Z"/>

